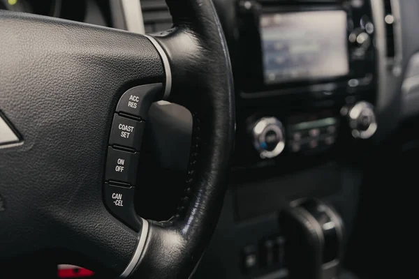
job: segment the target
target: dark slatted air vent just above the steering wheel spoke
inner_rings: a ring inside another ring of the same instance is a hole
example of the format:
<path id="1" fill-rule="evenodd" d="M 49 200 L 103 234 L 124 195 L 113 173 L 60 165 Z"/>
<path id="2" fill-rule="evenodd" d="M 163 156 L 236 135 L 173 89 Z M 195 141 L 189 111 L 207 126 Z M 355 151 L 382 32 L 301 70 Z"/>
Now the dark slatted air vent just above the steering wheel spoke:
<path id="1" fill-rule="evenodd" d="M 165 0 L 141 0 L 140 3 L 146 33 L 164 31 L 172 27 L 172 16 Z"/>

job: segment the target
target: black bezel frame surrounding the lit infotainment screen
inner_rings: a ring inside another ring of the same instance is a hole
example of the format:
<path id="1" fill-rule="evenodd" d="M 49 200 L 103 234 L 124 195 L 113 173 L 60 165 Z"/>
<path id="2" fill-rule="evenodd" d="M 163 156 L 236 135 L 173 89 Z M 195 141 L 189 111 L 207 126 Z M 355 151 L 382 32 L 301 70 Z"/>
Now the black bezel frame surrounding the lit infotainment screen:
<path id="1" fill-rule="evenodd" d="M 237 49 L 233 52 L 232 59 L 235 60 L 233 66 L 237 69 L 236 80 L 240 84 L 240 95 L 243 98 L 252 98 L 255 93 L 258 96 L 272 96 L 281 95 L 284 93 L 299 93 L 304 88 L 316 84 L 328 84 L 330 82 L 344 82 L 353 75 L 350 73 L 345 77 L 337 77 L 332 79 L 319 80 L 300 80 L 283 82 L 279 84 L 265 84 L 263 78 L 263 55 L 260 40 L 260 17 L 265 13 L 293 13 L 299 11 L 316 11 L 316 10 L 343 10 L 348 22 L 351 22 L 351 9 L 341 4 L 329 5 L 273 5 L 254 7 L 253 10 L 244 10 L 238 15 L 238 30 L 240 36 L 237 40 Z M 351 28 L 348 26 L 347 35 L 351 33 Z M 348 42 L 349 47 L 349 42 Z M 348 52 L 348 58 L 350 54 Z"/>

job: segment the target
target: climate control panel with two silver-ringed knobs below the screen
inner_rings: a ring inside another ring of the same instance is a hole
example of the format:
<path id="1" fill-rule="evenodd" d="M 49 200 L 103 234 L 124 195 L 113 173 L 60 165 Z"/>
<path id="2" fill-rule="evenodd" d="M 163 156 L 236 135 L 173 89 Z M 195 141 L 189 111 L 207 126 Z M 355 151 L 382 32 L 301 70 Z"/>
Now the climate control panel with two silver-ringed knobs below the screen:
<path id="1" fill-rule="evenodd" d="M 247 119 L 247 125 L 253 148 L 263 160 L 283 157 L 282 153 L 317 154 L 328 151 L 335 146 L 338 138 L 340 142 L 353 144 L 351 139 L 369 139 L 378 128 L 374 106 L 364 100 L 344 105 L 340 111 L 318 110 L 288 116 L 255 115 Z"/>

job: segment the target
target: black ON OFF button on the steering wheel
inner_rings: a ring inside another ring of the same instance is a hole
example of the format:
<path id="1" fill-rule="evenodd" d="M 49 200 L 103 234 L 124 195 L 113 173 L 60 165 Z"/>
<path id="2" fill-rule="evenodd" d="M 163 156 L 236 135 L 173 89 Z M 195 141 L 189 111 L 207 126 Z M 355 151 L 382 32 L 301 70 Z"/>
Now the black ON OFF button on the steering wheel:
<path id="1" fill-rule="evenodd" d="M 120 181 L 135 186 L 137 181 L 139 153 L 108 148 L 105 180 Z"/>

